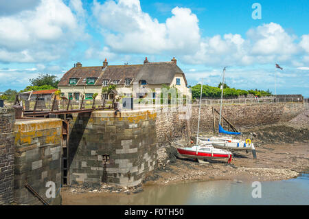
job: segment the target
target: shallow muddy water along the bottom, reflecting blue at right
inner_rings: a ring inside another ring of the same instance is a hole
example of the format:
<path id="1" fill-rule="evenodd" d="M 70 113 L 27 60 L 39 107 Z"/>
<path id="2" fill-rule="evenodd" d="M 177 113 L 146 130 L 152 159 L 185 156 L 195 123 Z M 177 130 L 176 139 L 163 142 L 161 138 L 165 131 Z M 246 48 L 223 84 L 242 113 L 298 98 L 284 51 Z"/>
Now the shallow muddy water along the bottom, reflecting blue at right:
<path id="1" fill-rule="evenodd" d="M 145 186 L 139 194 L 72 195 L 65 205 L 309 205 L 309 174 L 287 181 L 262 182 L 253 198 L 251 182 L 207 181 Z"/>

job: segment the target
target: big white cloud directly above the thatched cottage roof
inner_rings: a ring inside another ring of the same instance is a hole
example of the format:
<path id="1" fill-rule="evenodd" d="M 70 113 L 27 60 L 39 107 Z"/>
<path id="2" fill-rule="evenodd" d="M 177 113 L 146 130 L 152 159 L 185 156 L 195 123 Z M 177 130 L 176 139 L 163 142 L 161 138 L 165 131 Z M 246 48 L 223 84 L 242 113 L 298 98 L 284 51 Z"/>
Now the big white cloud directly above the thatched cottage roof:
<path id="1" fill-rule="evenodd" d="M 165 23 L 143 12 L 138 0 L 94 1 L 93 14 L 106 45 L 117 53 L 185 54 L 198 50 L 198 19 L 188 8 L 174 8 Z"/>

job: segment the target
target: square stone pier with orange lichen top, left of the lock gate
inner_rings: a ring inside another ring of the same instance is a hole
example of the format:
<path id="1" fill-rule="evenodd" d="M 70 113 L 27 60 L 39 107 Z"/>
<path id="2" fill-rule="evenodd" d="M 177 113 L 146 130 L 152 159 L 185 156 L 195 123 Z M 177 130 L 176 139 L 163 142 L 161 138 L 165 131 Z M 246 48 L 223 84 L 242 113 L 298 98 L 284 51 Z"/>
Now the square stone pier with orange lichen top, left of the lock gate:
<path id="1" fill-rule="evenodd" d="M 49 205 L 61 203 L 61 119 L 16 119 L 14 203 L 43 205 L 26 187 L 30 185 Z M 56 197 L 47 198 L 46 183 L 52 181 Z"/>

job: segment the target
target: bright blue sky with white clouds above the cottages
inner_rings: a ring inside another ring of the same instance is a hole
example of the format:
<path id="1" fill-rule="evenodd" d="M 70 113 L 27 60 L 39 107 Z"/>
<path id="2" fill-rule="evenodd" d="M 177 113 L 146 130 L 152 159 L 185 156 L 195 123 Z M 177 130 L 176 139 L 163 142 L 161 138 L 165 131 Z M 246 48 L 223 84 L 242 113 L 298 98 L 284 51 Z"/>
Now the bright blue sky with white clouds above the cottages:
<path id="1" fill-rule="evenodd" d="M 307 0 L 1 0 L 0 92 L 39 73 L 61 78 L 76 62 L 135 65 L 147 56 L 175 57 L 189 85 L 218 86 L 228 66 L 229 87 L 274 93 L 276 75 L 277 94 L 309 97 L 308 8 Z"/>

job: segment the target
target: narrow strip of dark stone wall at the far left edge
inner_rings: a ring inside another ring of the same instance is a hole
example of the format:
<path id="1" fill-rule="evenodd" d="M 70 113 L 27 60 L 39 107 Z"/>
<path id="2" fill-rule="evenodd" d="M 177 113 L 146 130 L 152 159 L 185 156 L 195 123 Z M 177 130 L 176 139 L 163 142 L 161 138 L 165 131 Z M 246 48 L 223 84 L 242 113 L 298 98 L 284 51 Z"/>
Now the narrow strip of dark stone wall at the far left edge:
<path id="1" fill-rule="evenodd" d="M 14 121 L 13 108 L 0 108 L 0 205 L 13 202 Z"/>

